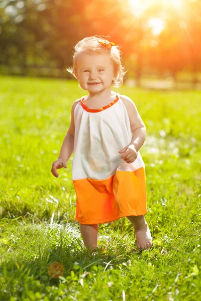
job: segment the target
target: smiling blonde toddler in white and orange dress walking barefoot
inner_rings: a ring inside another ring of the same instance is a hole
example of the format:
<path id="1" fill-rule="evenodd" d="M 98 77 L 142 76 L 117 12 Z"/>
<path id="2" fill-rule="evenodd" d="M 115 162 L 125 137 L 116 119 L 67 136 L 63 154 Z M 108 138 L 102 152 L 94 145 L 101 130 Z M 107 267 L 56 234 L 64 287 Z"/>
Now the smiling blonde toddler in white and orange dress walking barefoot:
<path id="1" fill-rule="evenodd" d="M 52 174 L 66 168 L 74 151 L 72 181 L 77 196 L 75 219 L 85 247 L 97 247 L 97 224 L 127 217 L 137 247 L 148 249 L 152 237 L 145 220 L 145 165 L 139 153 L 146 127 L 133 101 L 111 90 L 125 74 L 119 47 L 102 36 L 75 46 L 67 69 L 88 92 L 72 104 L 71 122 Z"/>

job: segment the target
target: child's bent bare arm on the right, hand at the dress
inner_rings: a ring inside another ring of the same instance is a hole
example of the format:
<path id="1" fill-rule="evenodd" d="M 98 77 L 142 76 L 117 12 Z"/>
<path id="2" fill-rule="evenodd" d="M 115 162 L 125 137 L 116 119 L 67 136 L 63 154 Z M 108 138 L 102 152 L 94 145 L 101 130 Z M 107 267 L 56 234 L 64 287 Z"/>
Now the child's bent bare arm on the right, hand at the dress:
<path id="1" fill-rule="evenodd" d="M 132 99 L 125 95 L 121 95 L 121 99 L 129 115 L 131 131 L 133 133 L 133 136 L 129 145 L 125 146 L 122 150 L 120 150 L 120 153 L 125 153 L 122 155 L 122 159 L 128 161 L 128 163 L 132 163 L 137 158 L 137 152 L 145 141 L 146 127 Z"/>

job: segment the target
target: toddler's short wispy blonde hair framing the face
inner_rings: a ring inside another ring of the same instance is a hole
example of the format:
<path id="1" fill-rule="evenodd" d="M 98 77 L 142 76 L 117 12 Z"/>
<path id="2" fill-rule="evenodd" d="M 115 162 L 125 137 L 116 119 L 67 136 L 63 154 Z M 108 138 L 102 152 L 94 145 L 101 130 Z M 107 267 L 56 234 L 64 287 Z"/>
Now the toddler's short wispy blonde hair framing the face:
<path id="1" fill-rule="evenodd" d="M 107 37 L 104 36 L 91 36 L 79 41 L 74 47 L 75 51 L 73 53 L 73 67 L 66 68 L 66 70 L 70 72 L 75 78 L 77 78 L 76 61 L 78 55 L 83 51 L 101 53 L 103 50 L 105 50 L 110 55 L 115 68 L 115 80 L 112 81 L 112 85 L 114 87 L 120 87 L 123 84 L 123 78 L 126 73 L 124 67 L 122 66 L 121 52 L 119 50 L 119 46 L 117 45 L 114 45 L 111 47 L 111 49 L 109 49 L 98 43 L 98 41 L 108 42 L 106 38 Z"/>

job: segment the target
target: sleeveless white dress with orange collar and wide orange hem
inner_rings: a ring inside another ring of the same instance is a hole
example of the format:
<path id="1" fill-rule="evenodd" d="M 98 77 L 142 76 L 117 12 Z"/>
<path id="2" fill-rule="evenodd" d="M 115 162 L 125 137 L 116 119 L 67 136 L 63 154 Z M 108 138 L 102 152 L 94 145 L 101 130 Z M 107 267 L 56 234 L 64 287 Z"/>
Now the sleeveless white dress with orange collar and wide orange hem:
<path id="1" fill-rule="evenodd" d="M 117 93 L 109 105 L 89 109 L 83 96 L 74 109 L 72 181 L 75 219 L 102 224 L 147 213 L 145 165 L 140 153 L 126 163 L 119 153 L 131 142 L 127 109 Z"/>

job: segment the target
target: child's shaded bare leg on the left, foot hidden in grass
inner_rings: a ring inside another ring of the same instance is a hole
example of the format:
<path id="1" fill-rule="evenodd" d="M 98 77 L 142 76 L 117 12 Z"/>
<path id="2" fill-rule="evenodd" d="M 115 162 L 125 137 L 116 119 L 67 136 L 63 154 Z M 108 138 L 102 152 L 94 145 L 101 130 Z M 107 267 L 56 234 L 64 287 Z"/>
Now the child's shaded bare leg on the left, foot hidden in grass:
<path id="1" fill-rule="evenodd" d="M 85 247 L 90 247 L 92 251 L 97 247 L 97 225 L 79 224 L 79 228 Z"/>

